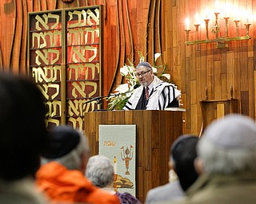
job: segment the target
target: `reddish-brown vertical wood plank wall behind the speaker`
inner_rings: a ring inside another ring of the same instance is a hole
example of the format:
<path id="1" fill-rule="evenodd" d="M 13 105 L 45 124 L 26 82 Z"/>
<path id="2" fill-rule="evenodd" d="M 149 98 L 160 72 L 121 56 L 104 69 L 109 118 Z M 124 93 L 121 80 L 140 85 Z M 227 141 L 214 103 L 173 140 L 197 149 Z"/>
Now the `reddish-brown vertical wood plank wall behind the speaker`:
<path id="1" fill-rule="evenodd" d="M 206 99 L 206 90 L 209 100 L 227 100 L 230 99 L 232 86 L 233 97 L 238 100 L 238 112 L 255 119 L 256 21 L 252 20 L 250 26 L 251 39 L 231 42 L 228 49 L 216 49 L 213 43 L 184 44 L 186 17 L 194 19 L 197 11 L 204 10 L 206 6 L 214 6 L 214 2 L 74 0 L 71 4 L 64 4 L 61 0 L 0 1 L 0 70 L 9 70 L 11 66 L 10 70 L 14 73 L 26 73 L 27 12 L 101 4 L 105 10 L 104 96 L 121 83 L 118 71 L 123 63 L 127 63 L 127 58 L 138 63 L 138 51 L 141 51 L 144 55 L 148 54 L 147 59 L 152 63 L 154 53 L 160 52 L 162 63 L 168 65 L 167 72 L 171 79 L 182 90 L 182 108 L 186 108 L 183 113 L 183 133 L 199 134 L 202 124 L 199 101 Z M 254 0 L 226 2 L 255 15 Z M 240 34 L 245 33 L 242 25 L 239 29 Z M 192 38 L 193 34 L 192 32 Z M 234 34 L 234 24 L 230 23 L 230 35 Z M 210 33 L 210 37 L 211 35 Z M 201 30 L 199 37 L 205 38 L 206 33 Z"/>

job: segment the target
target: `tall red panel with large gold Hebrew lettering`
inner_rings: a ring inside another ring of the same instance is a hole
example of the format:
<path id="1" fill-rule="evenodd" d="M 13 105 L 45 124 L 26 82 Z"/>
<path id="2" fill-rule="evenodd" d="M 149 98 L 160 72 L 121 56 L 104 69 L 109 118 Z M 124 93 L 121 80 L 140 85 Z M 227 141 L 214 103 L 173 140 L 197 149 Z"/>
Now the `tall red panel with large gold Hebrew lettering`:
<path id="1" fill-rule="evenodd" d="M 29 14 L 29 71 L 46 100 L 47 124 L 82 129 L 100 108 L 101 7 Z"/>

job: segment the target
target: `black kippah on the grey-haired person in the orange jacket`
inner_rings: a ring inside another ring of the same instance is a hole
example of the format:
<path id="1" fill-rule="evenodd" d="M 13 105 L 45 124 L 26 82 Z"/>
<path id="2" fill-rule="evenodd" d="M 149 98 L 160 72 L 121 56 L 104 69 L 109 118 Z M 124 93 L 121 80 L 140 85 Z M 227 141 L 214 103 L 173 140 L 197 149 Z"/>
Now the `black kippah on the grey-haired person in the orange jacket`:
<path id="1" fill-rule="evenodd" d="M 80 136 L 70 126 L 58 126 L 50 130 L 50 145 L 43 155 L 46 159 L 58 159 L 78 146 Z"/>

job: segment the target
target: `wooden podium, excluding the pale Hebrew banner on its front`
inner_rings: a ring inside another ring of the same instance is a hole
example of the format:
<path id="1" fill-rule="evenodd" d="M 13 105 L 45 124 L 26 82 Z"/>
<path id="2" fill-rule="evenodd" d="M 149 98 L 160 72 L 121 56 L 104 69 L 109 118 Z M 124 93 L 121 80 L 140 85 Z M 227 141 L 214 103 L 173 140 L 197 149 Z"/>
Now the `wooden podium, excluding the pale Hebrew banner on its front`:
<path id="1" fill-rule="evenodd" d="M 99 124 L 136 124 L 136 197 L 169 179 L 170 146 L 182 135 L 180 111 L 102 111 L 85 113 L 85 133 L 92 155 L 98 154 Z"/>

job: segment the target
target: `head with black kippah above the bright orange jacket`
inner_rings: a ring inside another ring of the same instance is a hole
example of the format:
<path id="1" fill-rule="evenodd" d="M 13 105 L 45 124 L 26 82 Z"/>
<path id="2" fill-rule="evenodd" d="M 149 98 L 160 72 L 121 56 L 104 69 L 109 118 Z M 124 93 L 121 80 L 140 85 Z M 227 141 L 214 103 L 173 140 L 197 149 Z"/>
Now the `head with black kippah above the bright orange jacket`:
<path id="1" fill-rule="evenodd" d="M 84 172 L 89 158 L 86 136 L 67 125 L 54 127 L 50 130 L 50 144 L 42 156 L 42 164 L 55 161 L 70 170 Z"/>

